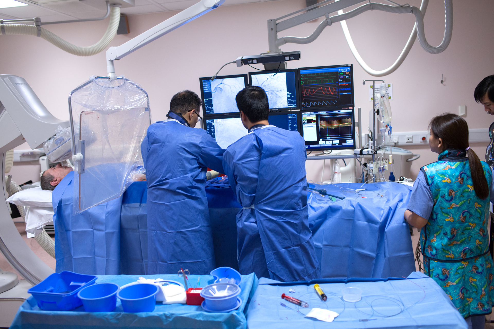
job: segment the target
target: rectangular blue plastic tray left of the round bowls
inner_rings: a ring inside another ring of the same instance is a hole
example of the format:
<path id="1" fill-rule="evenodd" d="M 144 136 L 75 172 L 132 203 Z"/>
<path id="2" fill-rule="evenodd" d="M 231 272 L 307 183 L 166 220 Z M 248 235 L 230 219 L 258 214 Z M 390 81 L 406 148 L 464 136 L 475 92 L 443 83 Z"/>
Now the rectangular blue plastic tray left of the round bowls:
<path id="1" fill-rule="evenodd" d="M 77 296 L 83 287 L 96 281 L 95 275 L 71 271 L 50 274 L 46 279 L 28 290 L 45 311 L 70 311 L 82 305 Z"/>

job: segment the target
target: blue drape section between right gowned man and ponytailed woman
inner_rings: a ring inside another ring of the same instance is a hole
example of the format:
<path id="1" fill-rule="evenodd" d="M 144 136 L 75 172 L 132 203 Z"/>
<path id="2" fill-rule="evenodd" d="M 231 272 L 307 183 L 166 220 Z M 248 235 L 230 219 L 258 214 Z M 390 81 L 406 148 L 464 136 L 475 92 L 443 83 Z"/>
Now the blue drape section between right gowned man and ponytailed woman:
<path id="1" fill-rule="evenodd" d="M 308 195 L 309 225 L 323 278 L 387 278 L 415 270 L 403 215 L 411 187 L 400 183 L 310 185 L 343 198 Z M 356 189 L 364 191 L 355 192 Z"/>

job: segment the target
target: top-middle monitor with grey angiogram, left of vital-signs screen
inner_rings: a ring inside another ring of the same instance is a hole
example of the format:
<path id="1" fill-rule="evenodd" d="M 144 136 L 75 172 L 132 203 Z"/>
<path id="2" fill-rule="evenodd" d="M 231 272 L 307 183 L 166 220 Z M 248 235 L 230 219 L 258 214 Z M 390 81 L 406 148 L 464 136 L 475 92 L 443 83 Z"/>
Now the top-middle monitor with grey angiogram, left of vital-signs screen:
<path id="1" fill-rule="evenodd" d="M 298 70 L 249 72 L 250 85 L 266 91 L 270 111 L 300 109 Z"/>

